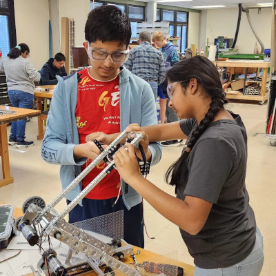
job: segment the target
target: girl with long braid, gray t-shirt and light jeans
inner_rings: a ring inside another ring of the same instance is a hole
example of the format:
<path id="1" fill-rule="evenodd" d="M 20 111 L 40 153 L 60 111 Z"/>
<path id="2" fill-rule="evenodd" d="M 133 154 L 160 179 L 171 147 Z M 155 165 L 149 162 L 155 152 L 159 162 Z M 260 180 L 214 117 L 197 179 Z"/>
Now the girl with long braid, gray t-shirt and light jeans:
<path id="1" fill-rule="evenodd" d="M 180 228 L 195 262 L 195 276 L 257 276 L 262 235 L 246 190 L 247 137 L 239 115 L 224 108 L 217 69 L 205 57 L 177 63 L 167 74 L 170 107 L 181 121 L 128 131 L 144 140 L 187 139 L 181 157 L 166 172 L 176 197 L 139 174 L 135 150 L 114 156 L 121 175 L 161 215 Z"/>

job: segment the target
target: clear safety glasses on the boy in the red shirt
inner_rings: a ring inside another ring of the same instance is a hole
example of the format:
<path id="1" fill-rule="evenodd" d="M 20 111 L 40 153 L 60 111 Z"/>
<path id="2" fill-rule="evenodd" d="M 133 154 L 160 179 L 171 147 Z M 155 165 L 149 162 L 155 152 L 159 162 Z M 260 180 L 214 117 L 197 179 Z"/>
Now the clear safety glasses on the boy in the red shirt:
<path id="1" fill-rule="evenodd" d="M 111 56 L 112 62 L 124 62 L 128 59 L 129 50 L 115 50 L 115 51 L 108 51 L 104 49 L 94 49 L 89 46 L 88 43 L 88 52 L 90 53 L 90 59 L 92 60 L 105 60 L 108 55 Z"/>

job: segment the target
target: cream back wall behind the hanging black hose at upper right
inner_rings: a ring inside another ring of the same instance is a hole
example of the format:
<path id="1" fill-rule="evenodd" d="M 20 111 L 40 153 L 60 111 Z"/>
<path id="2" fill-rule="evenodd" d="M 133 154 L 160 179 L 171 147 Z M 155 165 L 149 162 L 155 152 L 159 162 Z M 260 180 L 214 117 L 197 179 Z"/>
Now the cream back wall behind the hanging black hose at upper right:
<path id="1" fill-rule="evenodd" d="M 264 43 L 264 48 L 270 48 L 271 41 L 271 8 L 262 8 L 261 14 L 257 14 L 257 9 L 250 9 L 249 14 L 253 27 L 260 39 Z M 219 35 L 224 37 L 235 37 L 237 27 L 238 9 L 218 9 L 208 10 L 206 20 L 206 39 L 214 42 Z M 253 53 L 257 39 L 253 34 L 246 13 L 242 12 L 242 20 L 239 26 L 239 36 L 235 48 L 239 53 Z M 261 47 L 259 46 L 259 50 Z"/>

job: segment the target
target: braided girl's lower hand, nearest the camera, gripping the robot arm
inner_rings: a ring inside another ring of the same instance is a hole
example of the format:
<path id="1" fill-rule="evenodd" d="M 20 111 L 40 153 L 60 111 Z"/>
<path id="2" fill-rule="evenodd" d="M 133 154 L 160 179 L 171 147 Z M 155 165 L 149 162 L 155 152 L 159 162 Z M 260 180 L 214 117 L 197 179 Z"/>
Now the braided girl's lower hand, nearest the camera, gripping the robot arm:
<path id="1" fill-rule="evenodd" d="M 126 149 L 127 148 L 127 149 Z M 124 148 L 119 148 L 113 155 L 115 165 L 121 178 L 131 186 L 131 181 L 141 177 L 139 165 L 132 144 L 126 143 Z"/>

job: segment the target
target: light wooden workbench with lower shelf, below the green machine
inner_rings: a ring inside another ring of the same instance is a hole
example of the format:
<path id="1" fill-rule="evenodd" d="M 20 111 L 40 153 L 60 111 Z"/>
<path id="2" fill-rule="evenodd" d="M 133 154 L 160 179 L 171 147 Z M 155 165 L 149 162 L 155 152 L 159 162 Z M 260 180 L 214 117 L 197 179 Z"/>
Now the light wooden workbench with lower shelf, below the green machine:
<path id="1" fill-rule="evenodd" d="M 239 91 L 235 94 L 231 94 L 230 92 L 226 92 L 226 99 L 244 99 L 250 101 L 259 101 L 260 103 L 264 103 L 268 99 L 268 93 L 266 92 L 266 82 L 267 82 L 267 75 L 268 75 L 268 68 L 270 68 L 270 62 L 265 61 L 255 61 L 255 60 L 233 60 L 228 59 L 226 61 L 214 61 L 213 62 L 217 68 L 224 68 L 226 67 L 230 75 L 233 75 L 235 72 L 235 68 L 257 68 L 257 76 L 259 74 L 259 68 L 263 69 L 262 81 L 259 81 L 261 86 L 261 95 L 243 95 Z M 245 76 L 247 75 L 247 70 L 245 70 Z M 256 76 L 256 77 L 257 77 Z M 248 81 L 249 82 L 249 81 Z M 248 84 L 245 83 L 246 85 Z M 250 81 L 258 83 L 258 81 Z"/>

